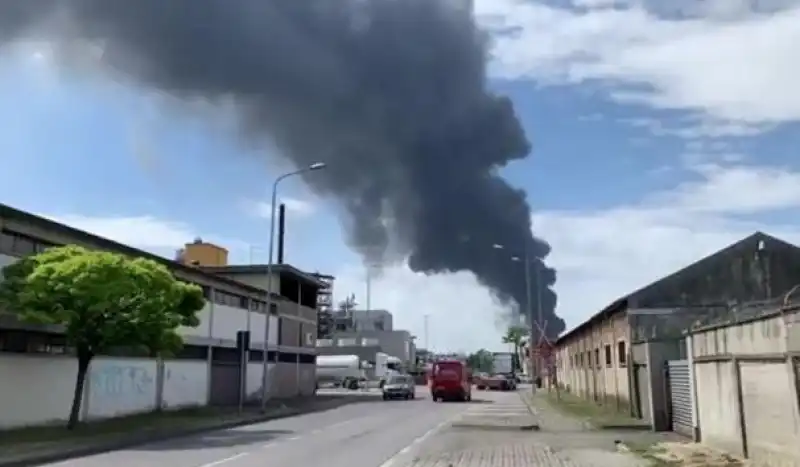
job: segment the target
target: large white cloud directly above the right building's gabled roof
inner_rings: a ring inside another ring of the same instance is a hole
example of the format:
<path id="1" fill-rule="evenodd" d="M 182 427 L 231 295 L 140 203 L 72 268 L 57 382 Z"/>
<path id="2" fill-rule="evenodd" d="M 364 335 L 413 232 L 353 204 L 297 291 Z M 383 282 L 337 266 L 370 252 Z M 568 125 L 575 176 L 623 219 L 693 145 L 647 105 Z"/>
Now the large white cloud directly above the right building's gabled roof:
<path id="1" fill-rule="evenodd" d="M 559 314 L 572 327 L 611 301 L 756 230 L 800 243 L 800 222 L 742 214 L 800 213 L 800 172 L 775 167 L 700 168 L 697 181 L 597 212 L 544 211 L 537 232 L 553 246 Z"/>

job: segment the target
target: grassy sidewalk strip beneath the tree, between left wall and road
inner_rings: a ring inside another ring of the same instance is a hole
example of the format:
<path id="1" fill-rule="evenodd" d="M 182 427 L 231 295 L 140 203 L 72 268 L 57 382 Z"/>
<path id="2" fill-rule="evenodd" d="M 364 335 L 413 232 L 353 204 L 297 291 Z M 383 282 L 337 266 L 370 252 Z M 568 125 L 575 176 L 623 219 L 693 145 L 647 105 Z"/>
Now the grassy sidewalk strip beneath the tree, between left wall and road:
<path id="1" fill-rule="evenodd" d="M 206 431 L 330 410 L 354 402 L 349 397 L 308 397 L 275 401 L 266 412 L 248 407 L 193 408 L 148 413 L 88 423 L 73 431 L 63 426 L 0 431 L 0 467 L 28 467 L 88 456 Z"/>

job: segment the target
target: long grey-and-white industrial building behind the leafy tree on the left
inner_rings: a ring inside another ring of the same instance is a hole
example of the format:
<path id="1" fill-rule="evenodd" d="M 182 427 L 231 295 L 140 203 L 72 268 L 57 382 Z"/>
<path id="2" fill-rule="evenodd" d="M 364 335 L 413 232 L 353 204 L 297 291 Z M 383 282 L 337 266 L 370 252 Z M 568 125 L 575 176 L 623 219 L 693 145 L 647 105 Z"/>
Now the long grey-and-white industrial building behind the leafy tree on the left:
<path id="1" fill-rule="evenodd" d="M 66 244 L 152 259 L 166 265 L 177 278 L 203 288 L 207 303 L 199 313 L 200 325 L 180 330 L 185 346 L 175 358 L 176 362 L 186 368 L 196 363 L 197 369 L 192 370 L 190 376 L 184 375 L 189 379 L 182 381 L 193 381 L 192 378 L 197 378 L 192 383 L 192 388 L 201 388 L 204 391 L 204 395 L 197 396 L 198 400 L 205 398 L 206 403 L 232 404 L 238 401 L 242 392 L 246 393 L 248 399 L 260 398 L 265 357 L 262 349 L 268 316 L 270 332 L 266 357 L 270 369 L 269 395 L 293 397 L 313 394 L 317 353 L 316 292 L 325 286 L 316 277 L 289 265 L 277 266 L 273 279 L 276 293 L 272 297 L 273 303 L 268 306 L 264 288 L 265 269 L 228 266 L 227 251 L 222 247 L 197 239 L 186 245 L 178 261 L 171 261 L 43 217 L 0 205 L 0 267 L 16 261 L 19 257 Z M 250 331 L 251 348 L 249 363 L 246 365 L 247 375 L 242 387 L 240 384 L 242 375 L 237 363 L 236 334 L 245 330 Z M 68 352 L 63 330 L 59 327 L 31 325 L 18 321 L 13 314 L 0 313 L 0 359 L 11 356 L 12 353 L 18 357 L 50 354 L 59 361 L 62 359 L 71 361 L 72 359 L 63 356 Z M 131 360 L 126 360 L 129 363 L 134 361 L 133 359 L 141 359 L 141 356 L 124 353 L 115 354 L 113 357 L 129 358 Z M 47 358 L 38 358 L 39 363 L 45 360 L 49 361 Z M 150 362 L 145 361 L 146 359 L 141 360 L 139 363 L 149 368 Z M 163 369 L 163 362 L 159 362 L 157 366 Z M 69 374 L 70 379 L 74 378 L 74 372 L 65 374 Z M 176 374 L 168 373 L 166 376 Z M 56 385 L 54 381 L 48 383 L 47 374 L 37 378 L 39 379 L 31 381 L 30 384 L 41 384 L 44 387 Z M 154 376 L 149 380 L 153 378 Z M 3 389 L 4 398 L 6 392 L 10 390 Z M 20 389 L 20 391 L 29 390 L 29 388 Z M 193 391 L 197 392 L 194 389 Z M 28 410 L 33 414 L 30 415 L 33 419 L 26 422 L 37 422 L 35 420 L 38 416 L 35 415 L 38 413 L 37 410 L 28 406 L 40 404 L 41 400 L 31 398 L 25 406 L 20 406 L 20 401 L 16 401 L 16 407 L 6 407 L 4 404 L 6 399 L 0 398 L 0 413 Z M 150 404 L 149 399 L 146 402 Z M 63 413 L 58 412 L 58 416 L 52 413 L 41 416 L 49 416 L 47 420 L 50 420 L 66 413 L 64 410 Z M 41 421 L 45 420 L 38 420 Z"/>

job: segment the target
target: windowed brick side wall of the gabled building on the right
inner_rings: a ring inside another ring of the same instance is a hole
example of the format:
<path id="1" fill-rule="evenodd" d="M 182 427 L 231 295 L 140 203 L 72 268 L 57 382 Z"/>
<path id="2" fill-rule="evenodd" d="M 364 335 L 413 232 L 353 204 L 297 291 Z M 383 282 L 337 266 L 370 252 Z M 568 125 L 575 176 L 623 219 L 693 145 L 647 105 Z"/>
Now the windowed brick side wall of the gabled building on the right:
<path id="1" fill-rule="evenodd" d="M 583 398 L 628 411 L 628 343 L 625 313 L 570 336 L 556 348 L 559 384 Z"/>

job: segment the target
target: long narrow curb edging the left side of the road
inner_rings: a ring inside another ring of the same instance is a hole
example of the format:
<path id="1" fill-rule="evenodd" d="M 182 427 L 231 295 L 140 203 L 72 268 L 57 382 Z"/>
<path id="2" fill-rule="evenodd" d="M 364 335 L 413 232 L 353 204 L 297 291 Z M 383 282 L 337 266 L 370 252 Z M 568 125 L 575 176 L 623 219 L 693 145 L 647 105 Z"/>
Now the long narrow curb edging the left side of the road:
<path id="1" fill-rule="evenodd" d="M 106 452 L 117 451 L 135 446 L 141 446 L 143 444 L 186 438 L 200 433 L 208 433 L 218 430 L 228 430 L 240 426 L 253 425 L 256 423 L 264 423 L 271 420 L 278 420 L 281 418 L 288 418 L 322 410 L 329 410 L 336 408 L 337 405 L 340 404 L 326 404 L 323 405 L 322 407 L 315 408 L 309 411 L 290 408 L 281 413 L 259 415 L 244 420 L 235 420 L 212 426 L 185 428 L 176 431 L 163 432 L 155 430 L 153 432 L 143 433 L 138 436 L 133 434 L 127 434 L 125 435 L 125 439 L 109 440 L 108 442 L 98 442 L 97 444 L 94 445 L 90 444 L 88 446 L 82 446 L 67 451 L 46 452 L 38 455 L 33 455 L 24 459 L 0 461 L 0 467 L 36 467 L 42 464 L 61 462 L 61 461 L 75 459 L 78 457 L 92 456 L 96 454 L 103 454 Z"/>

